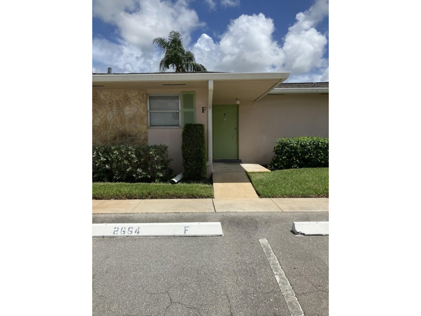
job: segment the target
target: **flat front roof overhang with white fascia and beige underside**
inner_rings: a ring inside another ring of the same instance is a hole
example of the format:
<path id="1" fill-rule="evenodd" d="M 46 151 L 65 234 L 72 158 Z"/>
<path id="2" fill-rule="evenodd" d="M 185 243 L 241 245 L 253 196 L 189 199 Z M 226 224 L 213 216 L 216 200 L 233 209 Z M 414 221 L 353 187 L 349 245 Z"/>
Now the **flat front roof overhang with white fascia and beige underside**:
<path id="1" fill-rule="evenodd" d="M 289 72 L 93 74 L 93 90 L 208 88 L 214 82 L 214 103 L 256 101 L 284 82 Z"/>

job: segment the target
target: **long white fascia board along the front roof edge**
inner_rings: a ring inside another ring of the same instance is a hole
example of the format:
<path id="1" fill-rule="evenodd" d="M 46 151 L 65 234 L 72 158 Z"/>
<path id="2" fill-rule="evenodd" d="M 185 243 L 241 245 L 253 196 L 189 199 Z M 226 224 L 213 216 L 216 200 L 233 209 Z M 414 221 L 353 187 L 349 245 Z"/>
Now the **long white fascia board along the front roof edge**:
<path id="1" fill-rule="evenodd" d="M 130 81 L 207 81 L 207 80 L 256 80 L 287 79 L 289 72 L 243 73 L 159 73 L 159 74 L 104 74 L 92 75 L 92 82 Z"/>

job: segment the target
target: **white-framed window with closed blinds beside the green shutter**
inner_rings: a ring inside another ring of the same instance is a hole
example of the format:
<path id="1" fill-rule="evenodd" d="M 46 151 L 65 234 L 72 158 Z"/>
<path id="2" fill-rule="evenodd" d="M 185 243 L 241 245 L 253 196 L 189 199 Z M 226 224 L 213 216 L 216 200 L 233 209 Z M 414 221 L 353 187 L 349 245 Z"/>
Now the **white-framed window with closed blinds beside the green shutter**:
<path id="1" fill-rule="evenodd" d="M 151 127 L 179 127 L 180 97 L 178 95 L 150 95 L 148 115 Z"/>

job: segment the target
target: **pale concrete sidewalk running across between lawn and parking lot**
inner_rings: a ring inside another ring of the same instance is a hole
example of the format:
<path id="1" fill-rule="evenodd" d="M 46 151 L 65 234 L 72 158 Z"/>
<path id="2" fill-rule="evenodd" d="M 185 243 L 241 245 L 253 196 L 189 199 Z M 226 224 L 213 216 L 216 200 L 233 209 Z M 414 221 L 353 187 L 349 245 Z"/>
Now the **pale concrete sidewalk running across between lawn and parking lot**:
<path id="1" fill-rule="evenodd" d="M 329 212 L 329 198 L 92 200 L 92 214 L 183 212 Z"/>

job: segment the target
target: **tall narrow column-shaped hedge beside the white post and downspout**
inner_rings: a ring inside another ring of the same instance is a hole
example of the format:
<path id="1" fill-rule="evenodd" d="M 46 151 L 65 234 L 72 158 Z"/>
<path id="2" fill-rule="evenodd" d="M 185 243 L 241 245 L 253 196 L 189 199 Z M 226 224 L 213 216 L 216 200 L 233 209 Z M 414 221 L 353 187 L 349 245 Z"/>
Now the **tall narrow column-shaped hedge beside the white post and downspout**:
<path id="1" fill-rule="evenodd" d="M 204 124 L 185 124 L 181 134 L 181 153 L 186 179 L 206 177 L 206 140 Z"/>

